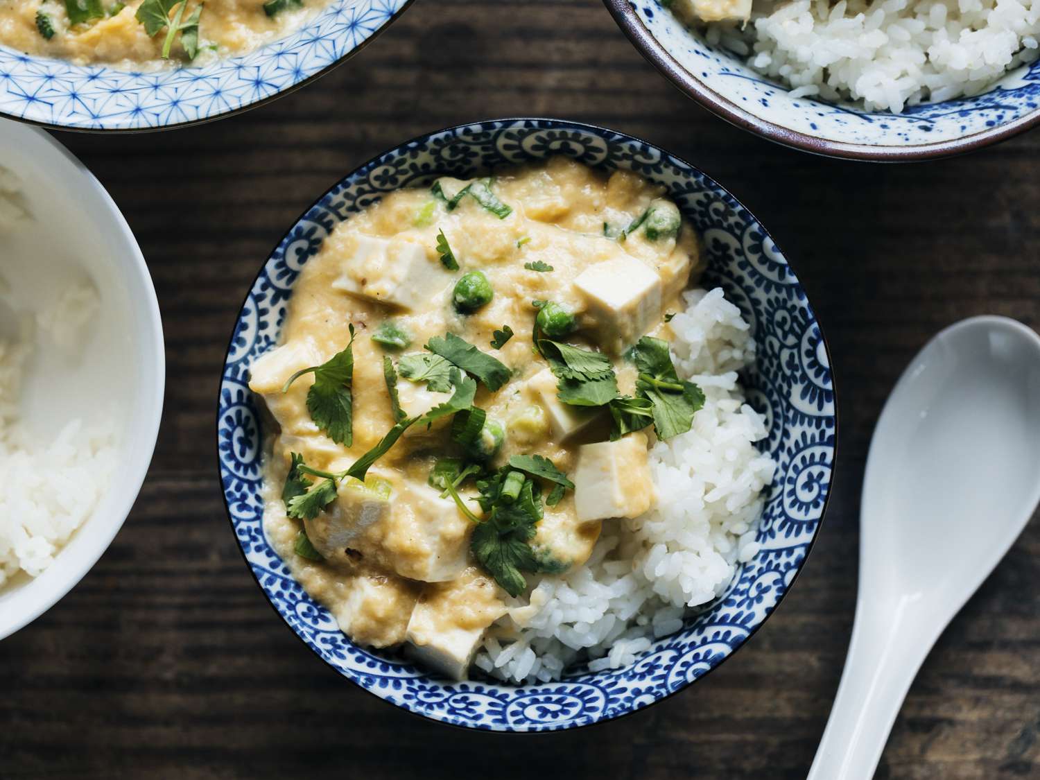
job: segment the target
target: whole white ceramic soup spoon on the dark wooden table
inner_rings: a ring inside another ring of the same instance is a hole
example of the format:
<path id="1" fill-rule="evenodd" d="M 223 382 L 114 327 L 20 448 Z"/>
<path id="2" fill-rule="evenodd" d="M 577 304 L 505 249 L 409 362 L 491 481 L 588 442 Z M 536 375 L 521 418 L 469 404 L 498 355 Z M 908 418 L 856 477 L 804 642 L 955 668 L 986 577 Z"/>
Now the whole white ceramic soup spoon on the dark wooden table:
<path id="1" fill-rule="evenodd" d="M 808 780 L 873 777 L 921 661 L 1038 500 L 1040 338 L 1006 317 L 951 326 L 874 432 L 856 621 Z"/>

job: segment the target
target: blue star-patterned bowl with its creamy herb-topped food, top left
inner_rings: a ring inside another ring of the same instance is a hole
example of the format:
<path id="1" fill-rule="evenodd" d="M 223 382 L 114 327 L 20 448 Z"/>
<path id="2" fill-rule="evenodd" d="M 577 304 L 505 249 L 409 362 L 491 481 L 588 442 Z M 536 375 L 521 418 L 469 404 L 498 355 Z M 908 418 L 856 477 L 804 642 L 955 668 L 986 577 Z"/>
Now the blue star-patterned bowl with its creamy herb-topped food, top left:
<path id="1" fill-rule="evenodd" d="M 274 100 L 359 51 L 412 0 L 11 0 L 0 115 L 154 130 Z"/>

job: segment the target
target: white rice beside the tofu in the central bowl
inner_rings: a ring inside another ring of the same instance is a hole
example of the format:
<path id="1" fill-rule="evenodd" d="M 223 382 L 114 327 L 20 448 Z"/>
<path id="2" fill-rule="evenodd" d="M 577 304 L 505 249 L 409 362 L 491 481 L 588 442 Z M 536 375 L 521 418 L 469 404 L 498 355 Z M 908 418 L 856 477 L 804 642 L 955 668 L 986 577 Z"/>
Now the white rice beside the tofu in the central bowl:
<path id="1" fill-rule="evenodd" d="M 628 666 L 721 595 L 758 551 L 761 492 L 775 464 L 754 445 L 765 424 L 743 402 L 736 376 L 755 344 L 721 289 L 684 297 L 686 310 L 672 319 L 672 357 L 706 400 L 693 430 L 650 450 L 656 506 L 606 521 L 584 566 L 532 578 L 529 603 L 517 600 L 477 653 L 474 664 L 488 674 L 546 681 L 580 657 L 593 671 Z"/>

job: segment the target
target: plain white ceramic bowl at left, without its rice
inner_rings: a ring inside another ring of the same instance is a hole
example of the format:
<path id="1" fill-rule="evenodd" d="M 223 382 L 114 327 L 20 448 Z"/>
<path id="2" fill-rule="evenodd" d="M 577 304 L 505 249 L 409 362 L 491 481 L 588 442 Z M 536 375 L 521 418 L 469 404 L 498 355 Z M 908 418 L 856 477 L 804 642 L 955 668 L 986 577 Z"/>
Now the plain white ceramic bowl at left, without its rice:
<path id="1" fill-rule="evenodd" d="M 79 360 L 70 364 L 44 350 L 30 360 L 22 419 L 47 439 L 69 419 L 89 421 L 111 410 L 118 451 L 116 476 L 54 563 L 35 579 L 16 577 L 0 588 L 3 639 L 71 591 L 122 527 L 155 448 L 165 357 L 145 258 L 100 182 L 46 132 L 6 120 L 0 120 L 0 165 L 21 179 L 37 223 L 12 239 L 31 249 L 31 261 L 22 251 L 2 258 L 14 308 L 31 310 L 36 301 L 46 303 L 60 292 L 62 282 L 68 284 L 71 272 L 88 276 L 101 297 Z"/>

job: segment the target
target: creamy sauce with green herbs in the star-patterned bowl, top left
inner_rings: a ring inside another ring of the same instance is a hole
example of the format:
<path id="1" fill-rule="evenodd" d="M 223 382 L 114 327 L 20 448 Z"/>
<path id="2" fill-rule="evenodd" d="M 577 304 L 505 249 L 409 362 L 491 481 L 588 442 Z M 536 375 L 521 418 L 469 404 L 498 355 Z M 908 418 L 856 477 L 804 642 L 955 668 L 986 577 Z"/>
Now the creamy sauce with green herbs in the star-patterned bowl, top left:
<path id="1" fill-rule="evenodd" d="M 0 0 L 0 45 L 126 71 L 201 66 L 283 37 L 327 4 L 327 0 L 176 4 L 175 0 Z M 168 20 L 165 25 L 163 15 Z"/>

